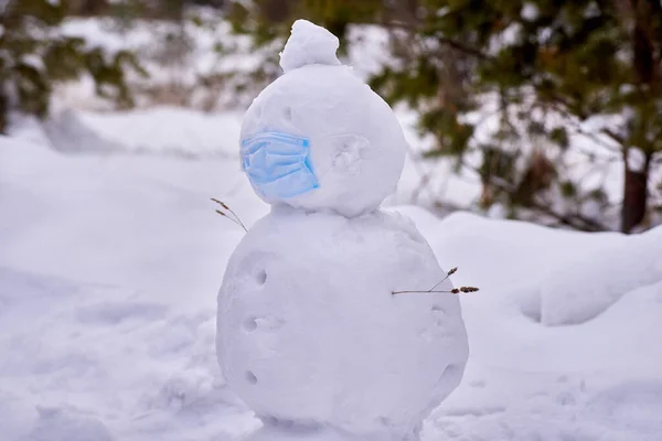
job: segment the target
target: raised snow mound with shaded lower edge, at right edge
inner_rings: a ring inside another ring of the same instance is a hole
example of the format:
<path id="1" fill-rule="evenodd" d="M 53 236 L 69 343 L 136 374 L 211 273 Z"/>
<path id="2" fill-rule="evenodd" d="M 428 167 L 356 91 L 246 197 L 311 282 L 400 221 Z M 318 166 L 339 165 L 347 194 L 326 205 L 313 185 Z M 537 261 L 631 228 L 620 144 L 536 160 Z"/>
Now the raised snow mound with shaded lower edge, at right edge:
<path id="1" fill-rule="evenodd" d="M 662 281 L 662 227 L 551 271 L 540 288 L 545 325 L 586 322 L 624 294 Z"/>

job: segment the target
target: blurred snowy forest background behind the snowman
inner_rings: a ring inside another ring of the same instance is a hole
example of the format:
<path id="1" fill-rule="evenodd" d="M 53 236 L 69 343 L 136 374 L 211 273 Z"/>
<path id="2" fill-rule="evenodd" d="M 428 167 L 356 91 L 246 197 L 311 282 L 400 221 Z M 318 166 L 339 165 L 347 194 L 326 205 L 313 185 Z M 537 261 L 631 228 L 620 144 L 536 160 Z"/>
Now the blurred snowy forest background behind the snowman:
<path id="1" fill-rule="evenodd" d="M 588 232 L 662 223 L 660 0 L 1 4 L 3 132 L 17 114 L 49 118 L 72 80 L 113 109 L 241 109 L 280 74 L 278 52 L 306 18 L 341 39 L 341 55 L 371 58 L 361 73 L 414 116 L 421 163 L 478 176 L 472 209 Z M 129 44 L 71 32 L 89 20 Z M 420 193 L 453 209 L 426 189 L 435 173 L 423 173 Z"/>

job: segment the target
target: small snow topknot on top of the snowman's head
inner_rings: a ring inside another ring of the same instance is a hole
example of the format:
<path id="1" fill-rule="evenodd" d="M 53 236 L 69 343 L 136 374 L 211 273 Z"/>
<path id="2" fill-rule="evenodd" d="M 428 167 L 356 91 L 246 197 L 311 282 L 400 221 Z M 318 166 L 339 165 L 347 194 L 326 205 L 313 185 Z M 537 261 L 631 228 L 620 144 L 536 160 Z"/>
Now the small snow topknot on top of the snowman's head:
<path id="1" fill-rule="evenodd" d="M 297 20 L 280 53 L 280 67 L 289 72 L 309 64 L 340 65 L 335 51 L 340 41 L 331 32 L 308 20 Z"/>

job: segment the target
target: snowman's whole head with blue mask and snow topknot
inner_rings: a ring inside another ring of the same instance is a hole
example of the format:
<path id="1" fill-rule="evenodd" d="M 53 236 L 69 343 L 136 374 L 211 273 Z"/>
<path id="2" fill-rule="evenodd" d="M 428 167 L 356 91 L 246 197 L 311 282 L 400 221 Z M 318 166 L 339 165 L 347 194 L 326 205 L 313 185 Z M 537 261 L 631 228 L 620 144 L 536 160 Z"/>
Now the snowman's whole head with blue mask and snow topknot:
<path id="1" fill-rule="evenodd" d="M 268 204 L 351 217 L 395 191 L 406 140 L 388 105 L 335 56 L 338 39 L 306 20 L 280 53 L 285 75 L 242 125 L 242 165 Z"/>

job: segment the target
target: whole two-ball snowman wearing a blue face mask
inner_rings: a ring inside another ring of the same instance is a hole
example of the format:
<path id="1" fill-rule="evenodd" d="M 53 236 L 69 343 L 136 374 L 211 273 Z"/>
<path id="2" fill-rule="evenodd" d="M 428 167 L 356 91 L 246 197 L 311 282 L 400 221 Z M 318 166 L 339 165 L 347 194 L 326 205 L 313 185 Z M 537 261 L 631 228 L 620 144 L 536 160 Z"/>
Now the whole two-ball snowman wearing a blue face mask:
<path id="1" fill-rule="evenodd" d="M 227 384 L 263 421 L 254 440 L 418 440 L 468 357 L 457 295 L 393 294 L 446 272 L 410 220 L 380 209 L 406 140 L 338 46 L 295 22 L 285 74 L 242 126 L 243 170 L 271 211 L 229 259 L 216 346 Z"/>

